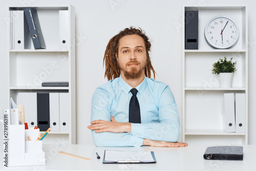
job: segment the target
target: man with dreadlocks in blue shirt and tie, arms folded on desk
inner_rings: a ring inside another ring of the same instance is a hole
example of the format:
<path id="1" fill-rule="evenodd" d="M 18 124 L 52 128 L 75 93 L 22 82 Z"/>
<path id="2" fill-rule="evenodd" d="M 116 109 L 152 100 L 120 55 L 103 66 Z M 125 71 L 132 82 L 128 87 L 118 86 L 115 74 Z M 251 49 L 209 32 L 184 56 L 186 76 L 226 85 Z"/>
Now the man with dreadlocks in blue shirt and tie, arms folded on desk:
<path id="1" fill-rule="evenodd" d="M 155 80 L 150 48 L 144 31 L 133 27 L 110 39 L 103 59 L 109 81 L 94 92 L 88 126 L 97 146 L 187 146 L 177 142 L 177 105 L 170 88 Z"/>

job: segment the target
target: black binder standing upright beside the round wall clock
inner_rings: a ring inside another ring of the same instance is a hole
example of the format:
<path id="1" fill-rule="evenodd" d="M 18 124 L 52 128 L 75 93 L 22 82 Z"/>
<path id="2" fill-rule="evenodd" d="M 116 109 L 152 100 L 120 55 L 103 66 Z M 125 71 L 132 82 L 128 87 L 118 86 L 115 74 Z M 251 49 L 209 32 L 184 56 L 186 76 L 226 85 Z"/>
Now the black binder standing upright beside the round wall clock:
<path id="1" fill-rule="evenodd" d="M 185 11 L 185 49 L 198 49 L 198 11 Z"/>

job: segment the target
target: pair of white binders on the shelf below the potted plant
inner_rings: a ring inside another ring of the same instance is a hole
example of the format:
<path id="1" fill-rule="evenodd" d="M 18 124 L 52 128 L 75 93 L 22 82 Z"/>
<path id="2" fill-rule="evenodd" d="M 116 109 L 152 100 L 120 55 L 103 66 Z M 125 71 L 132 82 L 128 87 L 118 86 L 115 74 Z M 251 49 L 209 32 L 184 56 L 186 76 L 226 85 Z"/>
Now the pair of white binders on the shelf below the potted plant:
<path id="1" fill-rule="evenodd" d="M 245 94 L 224 93 L 226 132 L 245 133 Z"/>

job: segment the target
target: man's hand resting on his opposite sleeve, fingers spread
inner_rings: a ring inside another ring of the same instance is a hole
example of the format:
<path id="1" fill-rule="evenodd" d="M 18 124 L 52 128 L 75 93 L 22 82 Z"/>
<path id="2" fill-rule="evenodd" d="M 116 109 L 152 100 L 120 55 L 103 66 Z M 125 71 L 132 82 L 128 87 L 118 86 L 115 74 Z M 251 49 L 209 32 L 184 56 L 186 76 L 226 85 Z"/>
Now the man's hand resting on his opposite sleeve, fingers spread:
<path id="1" fill-rule="evenodd" d="M 95 130 L 95 133 L 131 133 L 131 123 L 117 122 L 113 116 L 111 117 L 111 121 L 94 120 L 91 123 L 92 125 L 88 126 L 88 128 Z"/>

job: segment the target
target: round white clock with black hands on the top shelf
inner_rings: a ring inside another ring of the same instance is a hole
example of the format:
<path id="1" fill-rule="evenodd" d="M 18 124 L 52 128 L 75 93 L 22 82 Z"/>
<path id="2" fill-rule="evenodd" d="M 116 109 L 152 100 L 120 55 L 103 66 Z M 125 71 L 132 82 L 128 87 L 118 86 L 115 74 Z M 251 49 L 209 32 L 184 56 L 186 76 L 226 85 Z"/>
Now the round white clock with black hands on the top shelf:
<path id="1" fill-rule="evenodd" d="M 227 49 L 237 43 L 239 29 L 231 19 L 217 16 L 210 19 L 205 26 L 204 36 L 212 47 Z"/>

